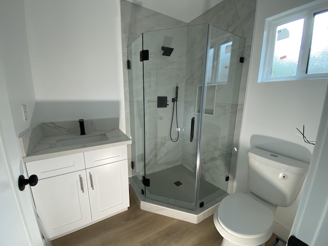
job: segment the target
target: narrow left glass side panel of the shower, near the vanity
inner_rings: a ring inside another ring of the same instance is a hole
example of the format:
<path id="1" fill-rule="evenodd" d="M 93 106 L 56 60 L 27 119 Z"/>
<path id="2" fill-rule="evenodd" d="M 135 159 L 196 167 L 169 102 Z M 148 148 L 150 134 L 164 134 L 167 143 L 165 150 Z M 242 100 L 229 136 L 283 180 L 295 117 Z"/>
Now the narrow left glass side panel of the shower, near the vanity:
<path id="1" fill-rule="evenodd" d="M 130 127 L 131 127 L 131 161 L 134 162 L 132 177 L 140 190 L 145 189 L 142 185 L 142 176 L 145 176 L 145 149 L 144 149 L 144 85 L 142 63 L 139 52 L 142 50 L 142 34 L 128 47 L 128 60 L 131 69 L 129 75 L 129 98 L 130 98 Z"/>

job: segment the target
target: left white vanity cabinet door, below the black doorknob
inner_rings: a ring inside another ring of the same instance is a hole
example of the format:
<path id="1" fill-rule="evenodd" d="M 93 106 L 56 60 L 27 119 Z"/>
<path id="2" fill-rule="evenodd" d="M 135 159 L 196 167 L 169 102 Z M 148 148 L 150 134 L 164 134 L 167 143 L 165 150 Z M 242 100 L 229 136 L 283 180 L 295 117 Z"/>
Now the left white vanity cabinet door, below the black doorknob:
<path id="1" fill-rule="evenodd" d="M 41 179 L 32 193 L 50 238 L 91 222 L 85 170 Z"/>

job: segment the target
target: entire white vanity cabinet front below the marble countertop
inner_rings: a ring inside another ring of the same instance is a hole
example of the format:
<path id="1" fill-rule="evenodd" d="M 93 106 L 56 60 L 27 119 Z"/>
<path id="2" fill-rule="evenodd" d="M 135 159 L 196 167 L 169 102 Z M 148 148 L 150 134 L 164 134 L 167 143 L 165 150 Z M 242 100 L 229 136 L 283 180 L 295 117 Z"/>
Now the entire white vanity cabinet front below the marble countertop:
<path id="1" fill-rule="evenodd" d="M 129 207 L 126 146 L 26 162 L 26 168 L 39 178 L 31 189 L 50 239 Z"/>

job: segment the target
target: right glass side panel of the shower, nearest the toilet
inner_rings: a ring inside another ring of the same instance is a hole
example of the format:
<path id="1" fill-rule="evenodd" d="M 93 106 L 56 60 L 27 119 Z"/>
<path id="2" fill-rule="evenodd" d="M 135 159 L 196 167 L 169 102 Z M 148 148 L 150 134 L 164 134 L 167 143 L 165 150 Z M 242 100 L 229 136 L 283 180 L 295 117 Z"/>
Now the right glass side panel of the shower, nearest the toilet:
<path id="1" fill-rule="evenodd" d="M 199 185 L 199 202 L 204 203 L 228 188 L 245 40 L 212 26 L 209 43 L 204 101 L 211 103 L 203 115 Z"/>

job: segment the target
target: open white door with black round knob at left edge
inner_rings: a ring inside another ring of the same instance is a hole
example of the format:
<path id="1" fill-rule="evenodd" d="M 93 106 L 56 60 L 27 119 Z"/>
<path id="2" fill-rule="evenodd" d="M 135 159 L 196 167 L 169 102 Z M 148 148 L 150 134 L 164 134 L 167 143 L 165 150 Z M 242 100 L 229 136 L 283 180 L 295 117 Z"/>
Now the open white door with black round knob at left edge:
<path id="1" fill-rule="evenodd" d="M 0 4 L 0 9 L 3 8 L 8 10 Z M 0 44 L 0 50 L 3 50 L 3 44 Z M 31 190 L 29 186 L 24 191 L 18 190 L 18 177 L 27 177 L 27 172 L 20 157 L 3 64 L 0 55 L 0 244 L 40 246 L 43 243 L 33 211 Z"/>

